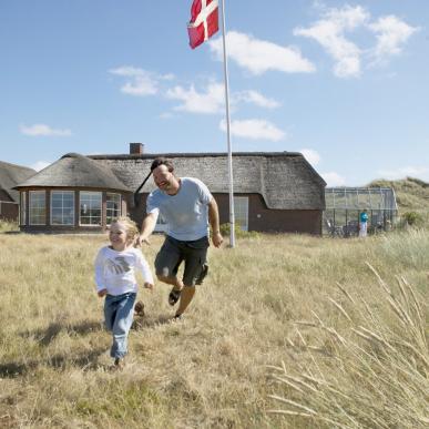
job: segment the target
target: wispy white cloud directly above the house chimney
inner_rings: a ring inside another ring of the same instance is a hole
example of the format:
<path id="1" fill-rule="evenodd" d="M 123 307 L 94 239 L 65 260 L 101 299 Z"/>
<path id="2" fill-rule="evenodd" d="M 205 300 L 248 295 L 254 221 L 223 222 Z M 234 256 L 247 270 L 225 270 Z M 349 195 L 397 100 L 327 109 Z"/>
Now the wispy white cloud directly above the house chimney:
<path id="1" fill-rule="evenodd" d="M 122 65 L 118 69 L 109 70 L 109 73 L 126 78 L 127 81 L 121 88 L 121 92 L 129 95 L 146 96 L 154 95 L 159 92 L 159 83 L 161 80 L 171 81 L 173 74 L 155 74 L 143 69 L 132 65 Z"/>

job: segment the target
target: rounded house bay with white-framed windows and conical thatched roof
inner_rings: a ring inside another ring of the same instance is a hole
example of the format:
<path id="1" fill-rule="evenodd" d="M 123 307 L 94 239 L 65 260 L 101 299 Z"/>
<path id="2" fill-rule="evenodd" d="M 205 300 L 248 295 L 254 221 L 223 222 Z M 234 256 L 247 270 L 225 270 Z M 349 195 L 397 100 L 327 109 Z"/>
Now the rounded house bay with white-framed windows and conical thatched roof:
<path id="1" fill-rule="evenodd" d="M 100 231 L 126 213 L 132 195 L 109 167 L 76 153 L 62 156 L 16 190 L 23 203 L 20 226 L 28 232 Z"/>

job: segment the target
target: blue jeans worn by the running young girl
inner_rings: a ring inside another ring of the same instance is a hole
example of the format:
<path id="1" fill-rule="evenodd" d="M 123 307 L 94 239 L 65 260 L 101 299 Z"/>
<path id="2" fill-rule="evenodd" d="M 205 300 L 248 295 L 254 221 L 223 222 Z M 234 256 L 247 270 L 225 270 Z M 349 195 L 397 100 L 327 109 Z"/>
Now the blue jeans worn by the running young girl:
<path id="1" fill-rule="evenodd" d="M 123 358 L 127 353 L 127 337 L 133 323 L 135 296 L 135 293 L 105 296 L 105 327 L 113 334 L 110 349 L 112 358 Z"/>

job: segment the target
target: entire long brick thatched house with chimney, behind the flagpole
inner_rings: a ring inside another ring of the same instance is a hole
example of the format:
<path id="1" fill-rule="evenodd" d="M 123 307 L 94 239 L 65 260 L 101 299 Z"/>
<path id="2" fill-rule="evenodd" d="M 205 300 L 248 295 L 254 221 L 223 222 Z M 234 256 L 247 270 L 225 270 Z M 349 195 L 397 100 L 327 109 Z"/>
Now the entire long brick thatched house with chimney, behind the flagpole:
<path id="1" fill-rule="evenodd" d="M 221 223 L 228 222 L 225 153 L 145 154 L 143 145 L 132 144 L 126 155 L 64 155 L 20 183 L 16 188 L 25 194 L 29 211 L 21 228 L 98 231 L 121 213 L 129 213 L 140 224 L 145 198 L 155 188 L 152 178 L 139 195 L 139 206 L 134 206 L 132 194 L 157 156 L 172 159 L 177 176 L 206 183 L 218 203 Z M 321 233 L 326 183 L 300 153 L 235 153 L 233 168 L 235 216 L 244 229 Z M 37 207 L 44 207 L 43 218 L 31 215 Z"/>

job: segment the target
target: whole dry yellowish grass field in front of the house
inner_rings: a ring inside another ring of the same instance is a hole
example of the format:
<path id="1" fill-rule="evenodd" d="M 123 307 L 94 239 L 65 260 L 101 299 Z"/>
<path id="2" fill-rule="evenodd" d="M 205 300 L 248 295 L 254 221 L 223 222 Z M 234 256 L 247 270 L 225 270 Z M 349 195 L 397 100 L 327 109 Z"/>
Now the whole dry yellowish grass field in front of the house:
<path id="1" fill-rule="evenodd" d="M 184 320 L 167 286 L 141 289 L 122 371 L 93 284 L 105 237 L 0 236 L 1 428 L 429 425 L 426 231 L 211 248 Z"/>

